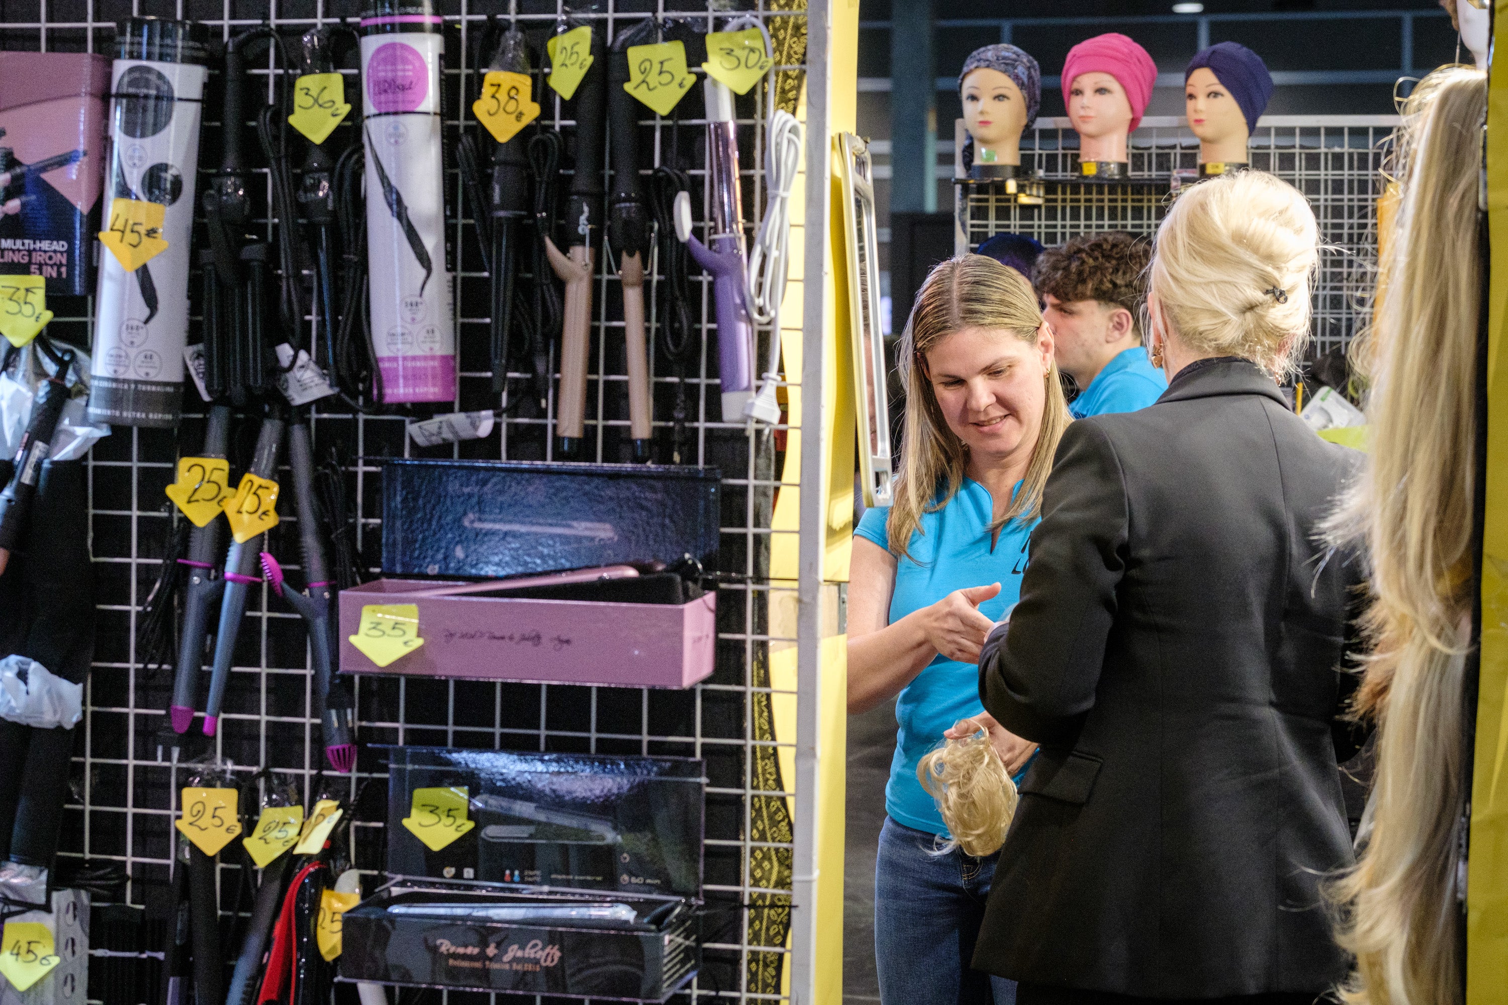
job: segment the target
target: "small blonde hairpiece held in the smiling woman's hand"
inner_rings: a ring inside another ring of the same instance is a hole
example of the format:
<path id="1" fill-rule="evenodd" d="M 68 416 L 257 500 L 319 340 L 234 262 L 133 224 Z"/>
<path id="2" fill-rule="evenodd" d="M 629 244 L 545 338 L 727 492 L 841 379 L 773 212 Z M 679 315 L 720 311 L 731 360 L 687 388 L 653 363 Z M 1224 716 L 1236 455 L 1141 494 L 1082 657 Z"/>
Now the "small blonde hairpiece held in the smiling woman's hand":
<path id="1" fill-rule="evenodd" d="M 953 839 L 938 851 L 962 848 L 976 859 L 995 854 L 1016 814 L 1016 784 L 1010 780 L 989 734 L 976 729 L 949 740 L 917 764 L 917 780 L 936 800 Z"/>

